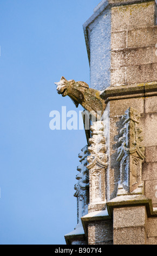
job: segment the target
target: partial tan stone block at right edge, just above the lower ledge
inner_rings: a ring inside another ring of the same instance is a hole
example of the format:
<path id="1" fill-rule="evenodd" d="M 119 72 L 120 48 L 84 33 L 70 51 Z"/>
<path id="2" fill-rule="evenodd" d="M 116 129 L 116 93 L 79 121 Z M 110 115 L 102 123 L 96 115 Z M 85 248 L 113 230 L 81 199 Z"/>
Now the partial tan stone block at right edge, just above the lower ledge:
<path id="1" fill-rule="evenodd" d="M 145 196 L 152 199 L 153 207 L 157 204 L 157 179 L 145 181 Z"/>

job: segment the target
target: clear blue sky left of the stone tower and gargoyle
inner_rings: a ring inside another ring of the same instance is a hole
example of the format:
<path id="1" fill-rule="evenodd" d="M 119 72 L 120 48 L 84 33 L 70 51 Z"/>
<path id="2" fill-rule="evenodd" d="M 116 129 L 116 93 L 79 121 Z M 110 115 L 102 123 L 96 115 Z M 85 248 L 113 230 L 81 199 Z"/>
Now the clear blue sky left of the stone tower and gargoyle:
<path id="1" fill-rule="evenodd" d="M 0 2 L 0 243 L 65 244 L 76 220 L 83 130 L 50 130 L 49 113 L 75 108 L 54 82 L 87 82 L 82 25 L 100 0 Z"/>

